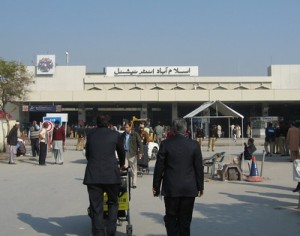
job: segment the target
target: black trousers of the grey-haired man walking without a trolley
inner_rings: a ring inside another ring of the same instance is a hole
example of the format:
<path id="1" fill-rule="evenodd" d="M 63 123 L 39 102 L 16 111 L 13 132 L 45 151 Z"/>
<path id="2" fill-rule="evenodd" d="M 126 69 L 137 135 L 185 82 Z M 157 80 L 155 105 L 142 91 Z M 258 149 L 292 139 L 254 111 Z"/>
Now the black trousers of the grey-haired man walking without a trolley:
<path id="1" fill-rule="evenodd" d="M 164 197 L 164 217 L 168 236 L 189 236 L 194 209 L 194 197 Z"/>

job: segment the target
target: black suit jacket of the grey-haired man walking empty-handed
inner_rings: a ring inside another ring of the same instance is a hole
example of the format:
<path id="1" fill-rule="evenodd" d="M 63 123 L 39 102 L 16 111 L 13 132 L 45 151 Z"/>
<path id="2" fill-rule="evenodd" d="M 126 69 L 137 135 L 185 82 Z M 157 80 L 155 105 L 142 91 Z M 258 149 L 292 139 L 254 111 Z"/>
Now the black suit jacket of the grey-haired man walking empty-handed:
<path id="1" fill-rule="evenodd" d="M 155 163 L 153 188 L 166 197 L 196 197 L 204 189 L 202 154 L 197 141 L 176 134 L 162 141 Z"/>

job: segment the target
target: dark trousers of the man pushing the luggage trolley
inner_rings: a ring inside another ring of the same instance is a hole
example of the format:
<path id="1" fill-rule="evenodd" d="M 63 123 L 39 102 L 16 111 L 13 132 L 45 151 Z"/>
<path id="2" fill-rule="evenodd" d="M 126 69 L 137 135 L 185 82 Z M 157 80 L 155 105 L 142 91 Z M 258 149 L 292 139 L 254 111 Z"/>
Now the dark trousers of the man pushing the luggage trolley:
<path id="1" fill-rule="evenodd" d="M 112 236 L 117 230 L 119 184 L 88 185 L 93 236 Z M 108 219 L 103 218 L 103 193 L 108 200 Z"/>

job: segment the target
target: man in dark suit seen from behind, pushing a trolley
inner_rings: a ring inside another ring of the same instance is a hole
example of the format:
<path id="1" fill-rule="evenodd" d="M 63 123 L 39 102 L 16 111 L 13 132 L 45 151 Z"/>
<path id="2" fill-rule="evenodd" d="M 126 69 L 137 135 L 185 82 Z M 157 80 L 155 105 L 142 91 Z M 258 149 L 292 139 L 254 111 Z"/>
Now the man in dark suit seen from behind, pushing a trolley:
<path id="1" fill-rule="evenodd" d="M 88 161 L 83 184 L 87 185 L 93 236 L 115 235 L 118 216 L 118 194 L 121 184 L 120 168 L 125 164 L 121 136 L 108 128 L 109 116 L 97 117 L 97 128 L 87 135 Z M 119 163 L 116 158 L 117 151 Z M 103 193 L 108 196 L 108 221 L 103 219 Z"/>

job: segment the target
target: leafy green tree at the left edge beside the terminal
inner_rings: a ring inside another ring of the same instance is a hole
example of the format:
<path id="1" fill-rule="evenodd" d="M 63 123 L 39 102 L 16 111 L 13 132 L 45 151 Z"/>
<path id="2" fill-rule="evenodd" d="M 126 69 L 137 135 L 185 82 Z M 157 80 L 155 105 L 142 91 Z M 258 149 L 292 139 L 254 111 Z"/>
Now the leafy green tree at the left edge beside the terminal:
<path id="1" fill-rule="evenodd" d="M 26 66 L 0 58 L 0 111 L 5 116 L 7 131 L 10 130 L 7 104 L 24 100 L 30 92 L 29 85 L 32 83 L 34 83 L 33 76 L 28 73 Z M 3 137 L 3 140 L 3 151 L 5 152 L 5 137 Z"/>

